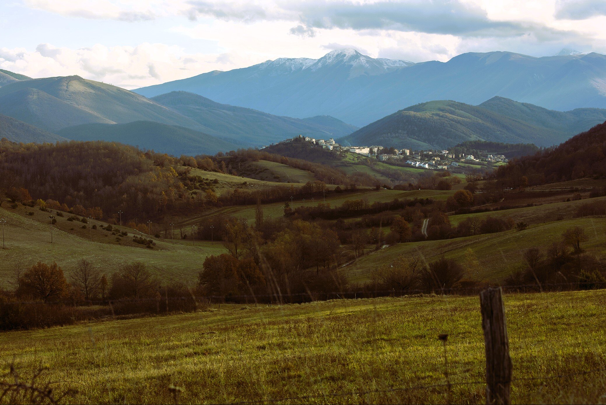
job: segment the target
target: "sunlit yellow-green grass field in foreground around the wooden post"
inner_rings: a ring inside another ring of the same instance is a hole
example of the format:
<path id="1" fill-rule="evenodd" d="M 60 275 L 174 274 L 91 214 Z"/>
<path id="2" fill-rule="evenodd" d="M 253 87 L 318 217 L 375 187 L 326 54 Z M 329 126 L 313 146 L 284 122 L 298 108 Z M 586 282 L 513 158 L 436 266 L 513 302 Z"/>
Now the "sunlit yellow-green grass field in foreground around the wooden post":
<path id="1" fill-rule="evenodd" d="M 512 403 L 604 400 L 605 305 L 605 290 L 505 295 Z M 1 333 L 0 356 L 24 378 L 48 367 L 55 392 L 78 389 L 68 403 L 170 403 L 173 384 L 181 403 L 447 403 L 439 333 L 450 403 L 484 403 L 477 296 L 214 305 Z"/>

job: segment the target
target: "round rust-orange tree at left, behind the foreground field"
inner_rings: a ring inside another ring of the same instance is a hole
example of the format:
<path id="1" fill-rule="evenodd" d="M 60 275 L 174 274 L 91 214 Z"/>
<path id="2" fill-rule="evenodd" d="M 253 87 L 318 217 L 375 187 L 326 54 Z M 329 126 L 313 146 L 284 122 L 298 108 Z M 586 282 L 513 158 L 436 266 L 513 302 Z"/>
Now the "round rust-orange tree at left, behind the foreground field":
<path id="1" fill-rule="evenodd" d="M 67 281 L 61 267 L 56 263 L 48 266 L 38 262 L 25 270 L 21 277 L 21 291 L 25 295 L 33 295 L 45 303 L 52 298 L 58 298 L 67 289 Z"/>

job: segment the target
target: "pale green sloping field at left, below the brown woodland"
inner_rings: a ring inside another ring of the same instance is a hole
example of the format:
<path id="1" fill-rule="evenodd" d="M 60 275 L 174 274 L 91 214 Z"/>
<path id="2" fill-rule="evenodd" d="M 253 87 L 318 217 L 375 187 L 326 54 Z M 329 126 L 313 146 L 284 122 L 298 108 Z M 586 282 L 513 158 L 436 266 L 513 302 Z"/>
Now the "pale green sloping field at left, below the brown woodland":
<path id="1" fill-rule="evenodd" d="M 23 216 L 13 209 L 0 208 L 0 217 L 7 220 L 5 224 L 5 244 L 7 249 L 0 250 L 0 284 L 12 278 L 16 266 L 32 266 L 38 261 L 52 263 L 55 261 L 68 272 L 75 263 L 82 258 L 100 266 L 108 273 L 115 271 L 119 264 L 132 261 L 143 261 L 151 270 L 158 274 L 163 281 L 182 281 L 185 283 L 195 281 L 199 270 L 202 269 L 204 259 L 209 255 L 218 255 L 226 250 L 221 243 L 197 241 L 193 247 L 191 241 L 170 241 L 170 239 L 154 239 L 156 246 L 153 250 L 144 245 L 132 242 L 135 230 L 124 227 L 130 232 L 129 236 L 117 241 L 111 232 L 90 229 L 81 229 L 80 222 L 67 221 L 53 215 L 58 223 L 53 230 L 53 243 L 50 238 L 50 224 L 48 212 L 41 212 L 30 207 L 19 206 L 19 210 L 27 209 L 34 212 L 33 216 Z M 42 221 L 42 222 L 41 222 Z M 93 221 L 100 226 L 101 221 Z M 70 230 L 70 228 L 74 228 Z M 176 230 L 176 229 L 175 229 Z M 90 240 L 92 236 L 92 240 Z"/>

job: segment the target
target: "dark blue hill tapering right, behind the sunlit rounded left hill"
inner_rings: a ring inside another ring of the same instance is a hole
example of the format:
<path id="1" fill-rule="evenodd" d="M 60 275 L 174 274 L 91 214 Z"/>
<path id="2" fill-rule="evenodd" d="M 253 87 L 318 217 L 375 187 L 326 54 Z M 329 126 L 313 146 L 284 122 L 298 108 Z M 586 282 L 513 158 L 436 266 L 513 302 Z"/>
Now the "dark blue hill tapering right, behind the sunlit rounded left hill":
<path id="1" fill-rule="evenodd" d="M 299 134 L 316 138 L 338 138 L 358 129 L 330 116 L 305 119 L 276 116 L 219 104 L 188 92 L 171 92 L 152 100 L 196 121 L 205 133 L 225 136 L 233 142 L 249 146 L 277 142 Z"/>

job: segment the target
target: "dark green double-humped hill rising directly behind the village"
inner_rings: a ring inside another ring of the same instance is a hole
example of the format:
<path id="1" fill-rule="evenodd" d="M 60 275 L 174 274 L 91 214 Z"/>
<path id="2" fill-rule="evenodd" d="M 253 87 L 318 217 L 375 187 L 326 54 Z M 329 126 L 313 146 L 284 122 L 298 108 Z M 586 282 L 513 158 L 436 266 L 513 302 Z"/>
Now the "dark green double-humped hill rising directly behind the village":
<path id="1" fill-rule="evenodd" d="M 411 149 L 441 149 L 474 140 L 552 146 L 604 121 L 604 109 L 559 112 L 502 97 L 480 105 L 442 100 L 399 110 L 339 141 Z"/>

